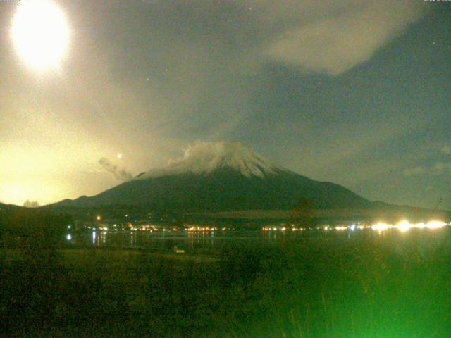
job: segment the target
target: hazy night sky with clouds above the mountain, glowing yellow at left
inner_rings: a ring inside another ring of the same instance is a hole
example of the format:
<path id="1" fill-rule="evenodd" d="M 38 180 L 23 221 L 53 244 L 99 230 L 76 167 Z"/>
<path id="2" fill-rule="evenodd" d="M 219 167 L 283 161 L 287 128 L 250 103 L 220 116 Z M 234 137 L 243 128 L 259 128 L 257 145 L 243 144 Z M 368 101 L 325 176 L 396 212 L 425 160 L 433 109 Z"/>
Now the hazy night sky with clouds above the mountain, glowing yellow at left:
<path id="1" fill-rule="evenodd" d="M 13 43 L 23 2 L 0 2 L 1 202 L 97 194 L 234 140 L 371 200 L 451 208 L 451 2 L 55 0 L 69 45 L 46 70 Z"/>

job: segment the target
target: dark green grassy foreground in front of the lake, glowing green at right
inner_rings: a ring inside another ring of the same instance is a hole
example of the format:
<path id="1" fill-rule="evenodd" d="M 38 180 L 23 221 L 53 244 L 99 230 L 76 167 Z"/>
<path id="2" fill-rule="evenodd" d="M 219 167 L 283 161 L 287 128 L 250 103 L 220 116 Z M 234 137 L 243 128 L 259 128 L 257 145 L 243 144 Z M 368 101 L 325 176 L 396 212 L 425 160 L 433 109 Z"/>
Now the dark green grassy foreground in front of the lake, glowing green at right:
<path id="1" fill-rule="evenodd" d="M 447 229 L 180 259 L 68 250 L 64 218 L 30 222 L 1 249 L 4 337 L 451 337 Z"/>

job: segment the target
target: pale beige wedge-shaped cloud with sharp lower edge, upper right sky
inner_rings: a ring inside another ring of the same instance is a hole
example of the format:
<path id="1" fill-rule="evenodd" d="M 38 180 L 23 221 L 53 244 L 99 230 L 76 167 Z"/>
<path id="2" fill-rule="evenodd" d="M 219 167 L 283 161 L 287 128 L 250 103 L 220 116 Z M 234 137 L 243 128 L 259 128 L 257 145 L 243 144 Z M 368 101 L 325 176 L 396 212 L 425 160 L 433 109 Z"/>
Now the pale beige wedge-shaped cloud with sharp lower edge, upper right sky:
<path id="1" fill-rule="evenodd" d="M 292 3 L 292 11 L 297 9 L 294 1 L 282 2 Z M 420 1 L 326 2 L 335 6 L 320 13 L 315 6 L 303 6 L 299 20 L 267 44 L 264 54 L 299 69 L 340 75 L 368 61 L 424 13 Z"/>

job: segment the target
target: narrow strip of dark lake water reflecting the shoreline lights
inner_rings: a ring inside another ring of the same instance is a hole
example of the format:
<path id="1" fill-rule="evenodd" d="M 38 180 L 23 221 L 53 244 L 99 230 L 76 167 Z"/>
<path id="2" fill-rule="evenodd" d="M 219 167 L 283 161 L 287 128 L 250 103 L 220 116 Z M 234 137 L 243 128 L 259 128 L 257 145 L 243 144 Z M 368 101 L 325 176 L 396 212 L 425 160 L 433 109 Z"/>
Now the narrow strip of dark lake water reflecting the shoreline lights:
<path id="1" fill-rule="evenodd" d="M 187 253 L 209 252 L 233 245 L 282 245 L 288 242 L 353 242 L 356 239 L 406 239 L 423 238 L 427 241 L 434 237 L 449 236 L 449 226 L 440 229 L 357 229 L 343 227 L 339 230 L 314 229 L 292 230 L 227 230 L 227 231 L 93 231 L 70 233 L 68 244 L 75 247 L 103 247 L 146 249 L 152 251 L 184 250 Z"/>

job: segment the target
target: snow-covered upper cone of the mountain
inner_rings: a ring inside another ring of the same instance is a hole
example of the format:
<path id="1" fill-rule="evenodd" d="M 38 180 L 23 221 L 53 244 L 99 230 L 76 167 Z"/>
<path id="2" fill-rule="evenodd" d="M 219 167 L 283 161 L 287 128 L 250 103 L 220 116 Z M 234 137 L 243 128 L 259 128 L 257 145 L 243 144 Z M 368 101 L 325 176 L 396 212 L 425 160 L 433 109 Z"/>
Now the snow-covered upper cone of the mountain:
<path id="1" fill-rule="evenodd" d="M 188 146 L 182 158 L 170 160 L 163 168 L 149 170 L 135 179 L 145 180 L 183 173 L 211 173 L 221 168 L 233 168 L 247 177 L 264 177 L 284 170 L 240 142 L 197 142 Z"/>

